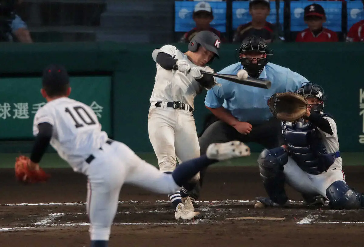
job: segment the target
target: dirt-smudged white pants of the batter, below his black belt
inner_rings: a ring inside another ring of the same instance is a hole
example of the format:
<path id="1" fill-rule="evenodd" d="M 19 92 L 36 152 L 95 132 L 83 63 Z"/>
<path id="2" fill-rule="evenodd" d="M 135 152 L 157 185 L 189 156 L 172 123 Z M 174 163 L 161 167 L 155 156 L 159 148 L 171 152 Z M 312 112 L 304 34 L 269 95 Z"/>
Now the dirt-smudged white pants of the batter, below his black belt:
<path id="1" fill-rule="evenodd" d="M 193 114 L 187 110 L 152 106 L 148 114 L 149 139 L 158 159 L 159 171 L 174 171 L 178 162 L 200 157 Z M 197 173 L 192 182 L 199 180 Z"/>

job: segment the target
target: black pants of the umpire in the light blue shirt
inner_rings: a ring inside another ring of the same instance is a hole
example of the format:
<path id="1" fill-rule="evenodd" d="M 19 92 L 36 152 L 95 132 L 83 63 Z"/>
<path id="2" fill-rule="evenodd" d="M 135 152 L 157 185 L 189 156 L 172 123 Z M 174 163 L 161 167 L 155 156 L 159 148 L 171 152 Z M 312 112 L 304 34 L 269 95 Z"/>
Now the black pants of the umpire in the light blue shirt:
<path id="1" fill-rule="evenodd" d="M 209 123 L 205 123 L 207 127 L 198 138 L 201 155 L 206 153 L 207 147 L 211 143 L 223 143 L 235 140 L 244 143 L 255 142 L 267 149 L 284 144 L 281 122 L 276 118 L 270 118 L 270 120 L 259 125 L 252 125 L 252 131 L 246 135 L 239 133 L 233 126 L 218 120 L 216 117 L 209 116 L 208 118 L 210 119 Z M 200 172 L 199 185 L 195 187 L 191 197 L 195 199 L 199 197 L 199 187 L 202 187 L 205 174 L 206 169 Z"/>

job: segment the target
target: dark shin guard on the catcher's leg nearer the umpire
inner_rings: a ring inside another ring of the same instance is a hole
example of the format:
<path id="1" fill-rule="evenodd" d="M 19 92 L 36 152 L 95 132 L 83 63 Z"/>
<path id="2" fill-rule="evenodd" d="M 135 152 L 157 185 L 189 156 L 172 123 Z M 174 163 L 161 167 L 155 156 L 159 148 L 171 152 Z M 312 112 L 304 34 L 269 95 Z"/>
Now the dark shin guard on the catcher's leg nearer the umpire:
<path id="1" fill-rule="evenodd" d="M 258 157 L 260 176 L 269 198 L 280 205 L 287 202 L 284 190 L 283 166 L 288 162 L 288 153 L 283 147 L 264 149 Z"/>

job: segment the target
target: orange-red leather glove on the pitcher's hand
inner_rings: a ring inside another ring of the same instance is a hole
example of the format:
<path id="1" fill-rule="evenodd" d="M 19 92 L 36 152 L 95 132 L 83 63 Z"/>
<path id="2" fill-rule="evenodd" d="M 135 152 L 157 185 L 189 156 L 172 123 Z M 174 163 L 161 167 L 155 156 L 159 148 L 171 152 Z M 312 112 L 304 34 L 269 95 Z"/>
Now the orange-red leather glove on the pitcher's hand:
<path id="1" fill-rule="evenodd" d="M 45 182 L 50 178 L 50 175 L 46 174 L 43 169 L 37 167 L 35 170 L 28 168 L 29 158 L 20 155 L 16 158 L 15 162 L 15 177 L 17 181 L 23 183 L 37 183 Z"/>

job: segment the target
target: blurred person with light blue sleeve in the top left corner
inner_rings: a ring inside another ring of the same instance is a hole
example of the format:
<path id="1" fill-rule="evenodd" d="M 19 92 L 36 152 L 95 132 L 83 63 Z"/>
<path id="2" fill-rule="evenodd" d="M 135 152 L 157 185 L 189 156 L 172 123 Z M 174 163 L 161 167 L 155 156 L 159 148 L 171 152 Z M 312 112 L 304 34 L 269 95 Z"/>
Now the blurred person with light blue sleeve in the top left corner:
<path id="1" fill-rule="evenodd" d="M 18 0 L 20 4 L 23 0 Z M 11 42 L 16 41 L 24 43 L 32 43 L 27 24 L 15 13 L 15 2 L 0 2 L 0 41 Z"/>

